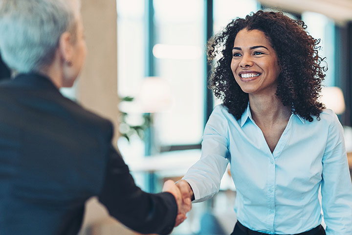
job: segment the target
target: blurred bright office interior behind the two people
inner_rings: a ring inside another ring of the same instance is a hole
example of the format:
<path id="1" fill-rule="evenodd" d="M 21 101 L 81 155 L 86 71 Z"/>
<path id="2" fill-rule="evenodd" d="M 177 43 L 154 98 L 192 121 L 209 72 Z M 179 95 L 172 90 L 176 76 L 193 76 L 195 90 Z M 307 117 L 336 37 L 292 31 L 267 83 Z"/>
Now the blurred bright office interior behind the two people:
<path id="1" fill-rule="evenodd" d="M 203 128 L 221 103 L 207 88 L 207 40 L 230 20 L 260 9 L 285 11 L 321 39 L 329 68 L 322 99 L 344 127 L 352 172 L 351 0 L 83 0 L 88 56 L 78 81 L 61 92 L 114 123 L 113 144 L 137 185 L 158 192 L 199 159 Z M 1 77 L 8 75 L 1 69 Z M 172 234 L 230 234 L 235 197 L 225 173 L 220 192 L 194 204 Z M 95 234 L 137 233 L 92 198 L 80 235 Z"/>

